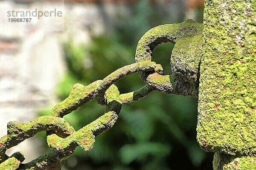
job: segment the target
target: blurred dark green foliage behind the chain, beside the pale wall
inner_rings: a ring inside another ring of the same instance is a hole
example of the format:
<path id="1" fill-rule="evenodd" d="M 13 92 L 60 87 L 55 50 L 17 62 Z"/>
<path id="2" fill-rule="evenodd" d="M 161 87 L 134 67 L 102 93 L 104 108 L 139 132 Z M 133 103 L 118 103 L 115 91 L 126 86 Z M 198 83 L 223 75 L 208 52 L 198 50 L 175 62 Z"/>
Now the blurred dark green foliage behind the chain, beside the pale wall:
<path id="1" fill-rule="evenodd" d="M 64 44 L 68 72 L 57 89 L 65 99 L 72 86 L 88 85 L 124 65 L 134 62 L 138 40 L 150 28 L 163 24 L 165 16 L 147 1 L 134 7 L 132 18 L 119 18 L 113 34 L 93 37 L 89 44 Z M 182 20 L 180 20 L 182 22 Z M 142 24 L 143 23 L 143 24 Z M 173 44 L 154 50 L 153 60 L 165 74 Z M 134 91 L 145 83 L 138 74 L 116 83 L 120 93 Z M 76 129 L 87 125 L 104 113 L 104 106 L 91 101 L 64 118 Z M 89 153 L 77 148 L 63 161 L 72 170 L 211 170 L 212 154 L 205 153 L 196 142 L 197 99 L 153 92 L 145 99 L 123 105 L 119 119 L 111 130 L 100 134 Z"/>

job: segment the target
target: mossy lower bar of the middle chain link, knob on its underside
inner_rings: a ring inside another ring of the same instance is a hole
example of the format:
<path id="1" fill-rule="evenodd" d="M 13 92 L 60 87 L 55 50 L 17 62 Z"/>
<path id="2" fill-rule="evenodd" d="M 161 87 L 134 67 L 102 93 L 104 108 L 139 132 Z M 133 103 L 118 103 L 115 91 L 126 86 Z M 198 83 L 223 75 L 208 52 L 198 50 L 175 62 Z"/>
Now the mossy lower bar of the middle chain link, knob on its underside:
<path id="1" fill-rule="evenodd" d="M 119 91 L 115 85 L 111 85 L 105 92 L 107 98 L 107 108 L 104 115 L 72 133 L 67 138 L 61 138 L 55 133 L 47 136 L 47 143 L 62 153 L 68 153 L 77 146 L 82 147 L 85 151 L 90 151 L 95 143 L 95 138 L 99 133 L 113 127 L 118 118 L 122 104 L 119 99 Z"/>

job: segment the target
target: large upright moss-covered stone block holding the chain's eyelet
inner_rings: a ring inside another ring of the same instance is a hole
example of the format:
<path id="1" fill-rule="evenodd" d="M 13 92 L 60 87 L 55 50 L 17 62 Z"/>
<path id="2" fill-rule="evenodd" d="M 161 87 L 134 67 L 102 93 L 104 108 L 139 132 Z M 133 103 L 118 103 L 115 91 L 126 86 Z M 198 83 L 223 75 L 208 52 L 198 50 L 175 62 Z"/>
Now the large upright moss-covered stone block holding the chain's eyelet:
<path id="1" fill-rule="evenodd" d="M 205 1 L 197 140 L 206 151 L 256 156 L 255 13 L 251 0 Z"/>

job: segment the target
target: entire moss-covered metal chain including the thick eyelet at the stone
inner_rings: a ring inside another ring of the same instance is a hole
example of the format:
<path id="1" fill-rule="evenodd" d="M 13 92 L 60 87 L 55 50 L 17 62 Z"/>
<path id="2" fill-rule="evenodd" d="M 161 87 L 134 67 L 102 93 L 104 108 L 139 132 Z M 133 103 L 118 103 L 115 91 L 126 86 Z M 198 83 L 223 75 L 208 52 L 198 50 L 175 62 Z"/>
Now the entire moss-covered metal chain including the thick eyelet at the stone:
<path id="1" fill-rule="evenodd" d="M 75 84 L 69 96 L 55 105 L 48 116 L 40 116 L 28 123 L 9 122 L 7 135 L 0 139 L 0 170 L 59 169 L 61 159 L 71 155 L 77 146 L 85 151 L 93 148 L 96 136 L 113 127 L 122 104 L 142 99 L 154 90 L 196 97 L 201 31 L 202 24 L 192 20 L 152 28 L 138 42 L 135 63 L 119 68 L 103 80 L 97 80 L 87 86 Z M 163 42 L 175 43 L 171 57 L 172 75 L 163 75 L 162 66 L 151 61 L 154 48 Z M 146 85 L 136 91 L 119 94 L 114 83 L 135 72 L 140 73 Z M 62 117 L 92 99 L 106 106 L 104 115 L 75 131 Z M 7 149 L 40 131 L 47 131 L 47 143 L 53 148 L 44 155 L 27 164 L 21 164 L 24 160 L 21 152 L 10 157 L 5 154 Z"/>

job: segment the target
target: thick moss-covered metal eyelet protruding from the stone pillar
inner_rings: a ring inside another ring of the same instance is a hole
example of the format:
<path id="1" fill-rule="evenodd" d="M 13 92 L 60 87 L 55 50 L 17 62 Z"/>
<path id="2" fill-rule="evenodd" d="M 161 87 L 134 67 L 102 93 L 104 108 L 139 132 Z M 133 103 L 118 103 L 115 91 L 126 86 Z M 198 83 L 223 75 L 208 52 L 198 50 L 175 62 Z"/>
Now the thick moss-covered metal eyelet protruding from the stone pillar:
<path id="1" fill-rule="evenodd" d="M 175 43 L 171 56 L 174 77 L 162 76 L 163 68 L 155 68 L 158 74 L 143 72 L 140 76 L 154 90 L 166 94 L 198 96 L 198 72 L 201 59 L 203 24 L 185 20 L 178 24 L 164 24 L 147 31 L 138 42 L 136 62 L 151 61 L 154 48 L 164 42 Z M 191 88 L 192 87 L 192 88 Z"/>

